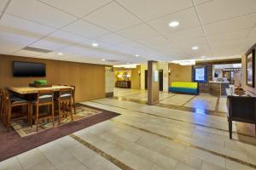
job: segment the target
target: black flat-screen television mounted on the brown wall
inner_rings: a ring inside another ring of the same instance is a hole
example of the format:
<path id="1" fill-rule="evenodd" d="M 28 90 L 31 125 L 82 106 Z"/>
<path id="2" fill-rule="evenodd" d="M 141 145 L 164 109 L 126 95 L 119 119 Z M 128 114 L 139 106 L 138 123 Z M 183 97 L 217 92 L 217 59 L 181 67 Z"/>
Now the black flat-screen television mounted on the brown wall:
<path id="1" fill-rule="evenodd" d="M 14 77 L 45 77 L 45 64 L 14 61 Z"/>

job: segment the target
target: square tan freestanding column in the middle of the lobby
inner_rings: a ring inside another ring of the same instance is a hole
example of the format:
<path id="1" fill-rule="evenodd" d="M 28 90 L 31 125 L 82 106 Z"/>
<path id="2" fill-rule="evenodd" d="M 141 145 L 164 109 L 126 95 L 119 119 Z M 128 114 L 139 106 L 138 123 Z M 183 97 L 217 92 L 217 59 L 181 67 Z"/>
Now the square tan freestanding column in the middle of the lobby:
<path id="1" fill-rule="evenodd" d="M 148 61 L 148 105 L 159 103 L 158 62 Z"/>

